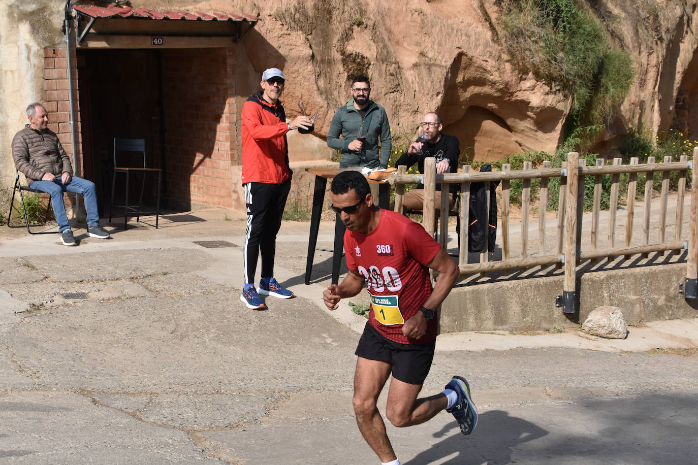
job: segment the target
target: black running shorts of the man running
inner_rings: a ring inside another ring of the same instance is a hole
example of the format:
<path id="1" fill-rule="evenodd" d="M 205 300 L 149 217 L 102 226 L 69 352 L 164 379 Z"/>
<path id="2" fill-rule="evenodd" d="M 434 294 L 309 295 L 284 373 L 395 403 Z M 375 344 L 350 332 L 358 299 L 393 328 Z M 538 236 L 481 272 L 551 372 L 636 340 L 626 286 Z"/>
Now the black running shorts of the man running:
<path id="1" fill-rule="evenodd" d="M 359 340 L 355 354 L 368 360 L 387 362 L 392 375 L 403 383 L 424 384 L 434 358 L 436 339 L 426 344 L 400 344 L 392 342 L 378 333 L 371 323 L 366 322 L 364 334 Z"/>

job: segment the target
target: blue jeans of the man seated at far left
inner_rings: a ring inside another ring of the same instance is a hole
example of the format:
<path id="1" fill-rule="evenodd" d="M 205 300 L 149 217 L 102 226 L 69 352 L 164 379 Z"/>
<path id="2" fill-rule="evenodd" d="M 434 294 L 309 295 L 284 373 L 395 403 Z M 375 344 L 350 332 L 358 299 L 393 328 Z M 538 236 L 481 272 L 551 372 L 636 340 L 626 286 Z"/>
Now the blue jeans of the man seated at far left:
<path id="1" fill-rule="evenodd" d="M 63 193 L 66 191 L 82 194 L 85 210 L 87 210 L 87 226 L 99 225 L 97 194 L 92 181 L 71 176 L 70 182 L 64 184 L 61 182 L 61 177 L 57 176 L 55 181 L 32 181 L 29 187 L 51 195 L 51 206 L 53 207 L 54 215 L 56 215 L 59 231 L 63 232 L 66 229 L 70 229 L 68 215 L 66 215 L 66 205 L 63 203 Z"/>

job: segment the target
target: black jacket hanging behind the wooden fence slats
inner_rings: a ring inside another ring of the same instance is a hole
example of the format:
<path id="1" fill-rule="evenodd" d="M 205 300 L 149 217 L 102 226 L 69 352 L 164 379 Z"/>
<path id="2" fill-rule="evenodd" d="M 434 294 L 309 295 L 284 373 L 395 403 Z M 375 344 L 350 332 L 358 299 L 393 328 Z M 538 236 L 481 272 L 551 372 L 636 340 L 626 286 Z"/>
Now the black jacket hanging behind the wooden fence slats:
<path id="1" fill-rule="evenodd" d="M 480 172 L 492 171 L 491 165 L 482 165 Z M 487 188 L 489 184 L 489 225 L 487 217 Z M 482 252 L 485 246 L 485 238 L 489 238 L 489 252 L 494 251 L 497 238 L 497 196 L 495 190 L 499 181 L 470 183 L 470 216 L 468 217 L 468 252 Z M 485 236 L 489 234 L 489 236 Z"/>

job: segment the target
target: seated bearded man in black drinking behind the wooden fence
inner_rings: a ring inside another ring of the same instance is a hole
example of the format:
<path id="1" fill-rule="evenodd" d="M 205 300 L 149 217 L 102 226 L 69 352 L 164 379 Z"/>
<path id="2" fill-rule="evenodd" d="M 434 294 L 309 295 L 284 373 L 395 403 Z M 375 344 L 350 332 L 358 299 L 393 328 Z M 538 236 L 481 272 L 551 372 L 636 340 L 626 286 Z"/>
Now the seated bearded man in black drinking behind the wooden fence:
<path id="1" fill-rule="evenodd" d="M 437 173 L 455 173 L 458 169 L 458 158 L 461 154 L 458 138 L 451 135 L 441 134 L 443 124 L 441 117 L 435 112 L 429 112 L 422 119 L 422 130 L 428 139 L 426 142 L 413 142 L 407 153 L 404 153 L 395 163 L 396 166 L 405 165 L 408 169 L 417 163 L 419 173 L 424 173 L 424 159 L 426 157 L 436 158 Z M 456 205 L 456 193 L 460 190 L 459 184 L 450 184 L 449 210 L 453 210 Z M 436 206 L 441 205 L 441 185 L 436 185 Z M 424 208 L 424 185 L 417 185 L 417 189 L 408 191 L 403 197 L 403 213 Z"/>

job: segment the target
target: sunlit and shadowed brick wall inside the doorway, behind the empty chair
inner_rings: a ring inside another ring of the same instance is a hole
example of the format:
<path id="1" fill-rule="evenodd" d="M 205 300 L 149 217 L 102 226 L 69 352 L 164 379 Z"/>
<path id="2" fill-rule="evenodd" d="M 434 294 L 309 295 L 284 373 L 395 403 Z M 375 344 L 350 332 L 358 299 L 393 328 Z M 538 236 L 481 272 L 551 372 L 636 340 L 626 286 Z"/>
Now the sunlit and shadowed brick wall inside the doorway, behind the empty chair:
<path id="1" fill-rule="evenodd" d="M 163 51 L 168 191 L 174 204 L 232 206 L 239 164 L 232 48 Z"/>

